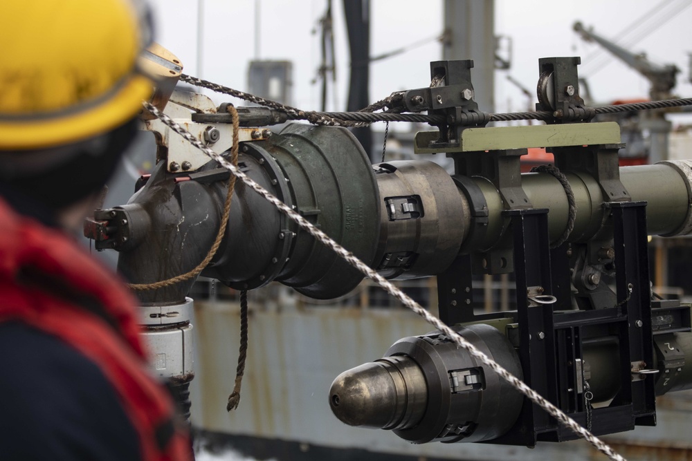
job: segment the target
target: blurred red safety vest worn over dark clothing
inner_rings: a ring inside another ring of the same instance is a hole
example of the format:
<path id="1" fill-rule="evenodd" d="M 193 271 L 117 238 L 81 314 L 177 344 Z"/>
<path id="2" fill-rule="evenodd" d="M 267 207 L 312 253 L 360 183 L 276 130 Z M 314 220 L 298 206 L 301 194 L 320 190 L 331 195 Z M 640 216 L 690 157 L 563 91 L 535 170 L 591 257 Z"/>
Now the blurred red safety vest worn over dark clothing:
<path id="1" fill-rule="evenodd" d="M 85 308 L 50 286 L 88 297 Z M 22 321 L 59 337 L 100 368 L 136 429 L 145 461 L 190 460 L 165 388 L 147 372 L 136 300 L 69 236 L 20 216 L 0 200 L 0 321 Z"/>

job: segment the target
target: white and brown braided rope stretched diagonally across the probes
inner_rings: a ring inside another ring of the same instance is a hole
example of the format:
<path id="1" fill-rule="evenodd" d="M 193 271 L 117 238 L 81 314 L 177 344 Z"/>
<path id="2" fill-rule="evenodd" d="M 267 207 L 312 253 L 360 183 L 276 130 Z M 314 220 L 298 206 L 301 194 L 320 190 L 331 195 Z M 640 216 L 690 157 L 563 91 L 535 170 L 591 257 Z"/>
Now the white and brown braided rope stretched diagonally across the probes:
<path id="1" fill-rule="evenodd" d="M 291 209 L 291 207 L 284 204 L 281 200 L 279 200 L 279 198 L 277 198 L 269 191 L 264 189 L 264 187 L 257 184 L 255 180 L 248 177 L 244 172 L 240 171 L 237 166 L 228 162 L 228 160 L 222 157 L 219 153 L 216 153 L 215 151 L 212 151 L 211 149 L 206 147 L 204 144 L 202 144 L 200 140 L 195 138 L 194 135 L 183 129 L 183 127 L 181 127 L 170 117 L 168 117 L 161 111 L 158 111 L 158 109 L 156 109 L 156 107 L 154 107 L 152 104 L 149 104 L 149 102 L 144 102 L 143 104 L 145 106 L 145 109 L 147 109 L 147 111 L 151 112 L 156 117 L 158 117 L 161 120 L 161 122 L 163 122 L 163 124 L 165 124 L 170 129 L 181 135 L 183 138 L 185 138 L 185 140 L 188 140 L 192 145 L 194 145 L 194 147 L 197 147 L 197 149 L 203 151 L 203 153 L 206 153 L 207 156 L 217 161 L 222 167 L 228 169 L 228 171 L 230 171 L 230 173 L 233 174 L 233 176 L 244 182 L 244 184 L 247 187 L 250 187 L 255 192 L 257 192 L 257 194 L 260 194 L 262 198 L 264 198 L 269 203 L 277 207 L 279 211 L 281 211 L 283 214 L 295 221 L 296 224 L 298 224 L 302 229 L 311 234 L 311 236 L 316 238 L 316 240 L 322 242 L 329 249 L 338 254 L 338 256 L 344 258 L 350 265 L 362 272 L 365 276 L 370 277 L 372 281 L 380 285 L 386 292 L 391 294 L 394 298 L 401 301 L 401 303 L 405 305 L 407 308 L 409 308 L 419 316 L 423 317 L 428 323 L 430 323 L 430 325 L 434 326 L 438 330 L 441 330 L 441 332 L 444 335 L 446 335 L 446 337 L 450 338 L 452 341 L 455 342 L 455 344 L 466 350 L 469 355 L 475 357 L 475 359 L 478 359 L 483 364 L 491 368 L 495 373 L 500 375 L 502 379 L 509 382 L 511 386 L 513 386 L 517 389 L 517 391 L 525 395 L 529 400 L 531 400 L 531 402 L 534 402 L 534 404 L 540 406 L 545 411 L 547 411 L 547 413 L 554 417 L 556 420 L 558 420 L 558 422 L 561 422 L 562 424 L 567 426 L 567 428 L 574 431 L 574 433 L 588 440 L 594 446 L 595 449 L 607 455 L 608 458 L 610 458 L 610 460 L 625 461 L 625 459 L 621 455 L 617 454 L 612 448 L 610 448 L 608 444 L 605 444 L 605 442 L 597 438 L 590 431 L 584 429 L 576 421 L 572 420 L 571 417 L 567 416 L 565 413 L 563 413 L 563 411 L 554 406 L 554 404 L 548 402 L 547 399 L 545 399 L 542 395 L 540 395 L 539 393 L 531 389 L 529 386 L 527 386 L 520 379 L 518 379 L 518 377 L 512 375 L 500 364 L 490 359 L 487 355 L 485 355 L 483 352 L 481 352 L 479 349 L 473 346 L 473 344 L 471 344 L 461 335 L 459 335 L 459 333 L 455 332 L 452 328 L 447 326 L 440 319 L 430 314 L 428 310 L 424 309 L 416 301 L 413 301 L 405 293 L 399 290 L 399 288 L 395 287 L 392 283 L 390 283 L 390 281 L 386 280 L 383 276 L 381 276 L 380 274 L 372 270 L 370 267 L 368 267 L 365 263 L 363 263 L 363 261 L 358 259 L 354 254 L 352 254 L 352 252 L 349 252 L 344 247 L 333 241 L 331 238 L 329 238 L 329 236 L 327 236 L 327 234 L 325 234 L 320 229 L 309 223 L 305 218 L 300 216 L 300 214 L 298 214 L 297 211 Z"/>

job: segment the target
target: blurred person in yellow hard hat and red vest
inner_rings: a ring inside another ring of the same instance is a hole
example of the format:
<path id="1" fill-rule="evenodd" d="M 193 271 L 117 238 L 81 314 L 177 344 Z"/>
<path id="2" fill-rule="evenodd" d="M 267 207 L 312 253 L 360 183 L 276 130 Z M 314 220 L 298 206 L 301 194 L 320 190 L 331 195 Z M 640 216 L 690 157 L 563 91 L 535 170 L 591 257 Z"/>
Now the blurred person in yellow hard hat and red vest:
<path id="1" fill-rule="evenodd" d="M 147 371 L 133 297 L 71 236 L 136 133 L 152 83 L 135 0 L 0 14 L 0 459 L 188 460 Z"/>

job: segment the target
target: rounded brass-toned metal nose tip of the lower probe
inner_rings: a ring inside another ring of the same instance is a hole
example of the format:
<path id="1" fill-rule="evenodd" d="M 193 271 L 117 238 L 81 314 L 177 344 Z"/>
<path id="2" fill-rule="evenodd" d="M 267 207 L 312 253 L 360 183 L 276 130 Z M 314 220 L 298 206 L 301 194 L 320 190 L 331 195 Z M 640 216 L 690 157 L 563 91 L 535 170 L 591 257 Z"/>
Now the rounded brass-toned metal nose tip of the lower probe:
<path id="1" fill-rule="evenodd" d="M 428 387 L 409 357 L 385 357 L 341 373 L 331 384 L 329 405 L 350 426 L 407 429 L 423 417 Z"/>

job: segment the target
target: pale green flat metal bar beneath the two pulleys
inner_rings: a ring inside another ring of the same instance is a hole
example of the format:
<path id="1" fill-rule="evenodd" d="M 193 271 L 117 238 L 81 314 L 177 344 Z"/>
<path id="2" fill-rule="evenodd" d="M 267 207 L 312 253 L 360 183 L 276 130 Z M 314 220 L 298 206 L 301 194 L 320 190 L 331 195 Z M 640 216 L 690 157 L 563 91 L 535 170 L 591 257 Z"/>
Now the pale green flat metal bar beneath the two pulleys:
<path id="1" fill-rule="evenodd" d="M 462 131 L 458 146 L 435 146 L 439 131 L 416 133 L 415 153 L 477 152 L 530 147 L 566 147 L 619 144 L 620 126 L 615 122 L 527 126 L 490 126 Z"/>

